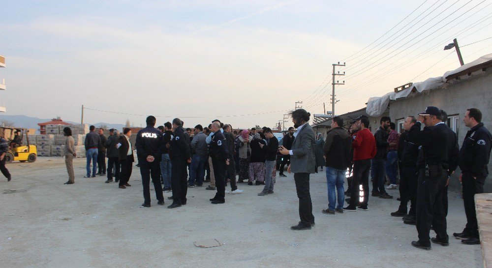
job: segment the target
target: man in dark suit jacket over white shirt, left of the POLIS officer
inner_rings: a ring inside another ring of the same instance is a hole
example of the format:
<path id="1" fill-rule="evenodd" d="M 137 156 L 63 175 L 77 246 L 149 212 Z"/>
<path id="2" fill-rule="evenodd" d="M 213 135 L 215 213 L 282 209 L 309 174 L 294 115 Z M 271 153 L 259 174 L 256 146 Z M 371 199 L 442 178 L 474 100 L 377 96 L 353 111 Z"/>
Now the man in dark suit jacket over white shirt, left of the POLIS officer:
<path id="1" fill-rule="evenodd" d="M 120 153 L 119 158 L 120 166 L 122 169 L 120 173 L 120 183 L 118 185 L 120 189 L 126 189 L 127 186 L 131 186 L 130 184 L 128 184 L 128 181 L 130 180 L 135 158 L 133 157 L 133 149 L 131 148 L 130 136 L 131 129 L 123 129 L 123 135 L 118 138 L 118 144 L 116 145 Z"/>

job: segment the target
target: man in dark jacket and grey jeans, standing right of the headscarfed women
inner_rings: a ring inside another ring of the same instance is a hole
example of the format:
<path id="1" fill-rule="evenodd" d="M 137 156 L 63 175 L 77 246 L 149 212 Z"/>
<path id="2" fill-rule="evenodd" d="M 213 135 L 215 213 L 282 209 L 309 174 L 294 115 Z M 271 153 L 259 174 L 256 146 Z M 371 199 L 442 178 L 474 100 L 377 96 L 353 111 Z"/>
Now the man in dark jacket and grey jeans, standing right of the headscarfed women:
<path id="1" fill-rule="evenodd" d="M 277 152 L 278 152 L 278 140 L 274 136 L 272 129 L 267 127 L 265 129 L 265 137 L 268 139 L 266 154 L 265 154 L 265 187 L 258 194 L 259 196 L 269 195 L 274 193 L 274 181 L 272 179 L 272 174 L 274 171 L 275 163 L 277 162 Z M 260 144 L 263 148 L 265 145 Z"/>

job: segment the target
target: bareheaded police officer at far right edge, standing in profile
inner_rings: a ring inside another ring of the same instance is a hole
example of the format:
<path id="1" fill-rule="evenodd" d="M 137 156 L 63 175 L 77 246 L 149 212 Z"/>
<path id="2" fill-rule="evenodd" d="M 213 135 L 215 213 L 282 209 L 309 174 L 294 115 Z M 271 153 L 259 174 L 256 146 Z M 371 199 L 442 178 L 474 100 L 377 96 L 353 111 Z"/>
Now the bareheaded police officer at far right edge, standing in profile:
<path id="1" fill-rule="evenodd" d="M 485 179 L 489 175 L 487 164 L 491 155 L 492 135 L 482 123 L 482 112 L 476 108 L 466 110 L 464 124 L 470 128 L 464 137 L 460 150 L 460 181 L 463 186 L 463 203 L 466 213 L 466 227 L 453 236 L 464 244 L 480 244 L 475 194 L 484 192 Z"/>

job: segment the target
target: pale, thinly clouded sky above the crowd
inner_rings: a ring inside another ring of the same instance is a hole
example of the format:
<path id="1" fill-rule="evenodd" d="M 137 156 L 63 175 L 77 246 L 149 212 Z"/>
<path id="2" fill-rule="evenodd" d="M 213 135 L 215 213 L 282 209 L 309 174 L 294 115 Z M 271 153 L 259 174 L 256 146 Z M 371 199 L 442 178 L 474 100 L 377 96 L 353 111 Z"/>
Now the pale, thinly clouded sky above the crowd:
<path id="1" fill-rule="evenodd" d="M 5 115 L 274 127 L 492 53 L 492 0 L 2 1 Z M 486 39 L 486 40 L 484 40 Z M 477 42 L 478 41 L 478 42 Z M 476 42 L 476 43 L 474 43 Z M 285 126 L 292 125 L 291 122 Z"/>

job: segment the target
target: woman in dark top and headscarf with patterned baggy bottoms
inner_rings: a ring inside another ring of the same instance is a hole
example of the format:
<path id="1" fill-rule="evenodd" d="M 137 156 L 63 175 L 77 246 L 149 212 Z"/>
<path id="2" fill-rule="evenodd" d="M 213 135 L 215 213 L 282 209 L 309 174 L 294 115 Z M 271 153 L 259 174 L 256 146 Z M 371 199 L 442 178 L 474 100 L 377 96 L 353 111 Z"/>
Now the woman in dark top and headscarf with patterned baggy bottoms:
<path id="1" fill-rule="evenodd" d="M 253 140 L 250 143 L 251 160 L 249 162 L 248 185 L 253 185 L 253 180 L 256 180 L 256 185 L 260 185 L 265 181 L 266 145 L 267 143 L 261 139 L 259 133 L 254 134 Z"/>

